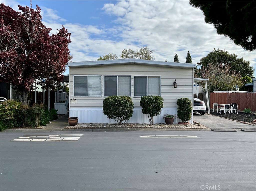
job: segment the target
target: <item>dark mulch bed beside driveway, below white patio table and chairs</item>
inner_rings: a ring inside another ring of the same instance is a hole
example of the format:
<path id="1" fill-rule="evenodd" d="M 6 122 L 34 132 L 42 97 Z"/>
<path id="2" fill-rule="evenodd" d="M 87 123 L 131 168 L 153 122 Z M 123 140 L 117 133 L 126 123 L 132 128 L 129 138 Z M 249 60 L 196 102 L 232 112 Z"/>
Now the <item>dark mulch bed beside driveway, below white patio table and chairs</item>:
<path id="1" fill-rule="evenodd" d="M 227 118 L 227 119 L 231 119 L 231 120 L 234 120 L 234 121 L 242 121 L 242 122 L 246 122 L 247 124 L 251 124 L 251 125 L 255 125 L 255 123 L 252 123 L 254 119 L 256 119 L 256 113 L 255 112 L 252 112 L 251 114 L 248 114 L 248 113 L 244 113 L 242 111 L 238 112 L 237 113 L 234 113 L 234 114 L 229 114 L 229 113 L 225 113 L 224 112 L 221 112 L 221 113 L 217 113 L 216 111 L 212 112 L 211 111 L 211 115 L 214 115 L 214 116 L 218 116 L 218 117 L 222 117 L 222 118 Z"/>

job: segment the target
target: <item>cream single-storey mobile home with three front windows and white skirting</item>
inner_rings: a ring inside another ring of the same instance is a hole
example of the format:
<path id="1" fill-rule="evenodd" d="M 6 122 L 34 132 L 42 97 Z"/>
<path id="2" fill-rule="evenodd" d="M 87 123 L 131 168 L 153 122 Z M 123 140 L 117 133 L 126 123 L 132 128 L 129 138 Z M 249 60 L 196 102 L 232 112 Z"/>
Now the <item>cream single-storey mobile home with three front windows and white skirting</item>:
<path id="1" fill-rule="evenodd" d="M 103 114 L 103 100 L 110 95 L 127 95 L 134 102 L 128 123 L 149 123 L 140 107 L 141 96 L 160 95 L 164 108 L 155 123 L 164 123 L 163 114 L 177 114 L 177 99 L 193 102 L 195 64 L 140 59 L 118 59 L 69 63 L 69 114 L 78 123 L 116 123 Z M 177 88 L 174 88 L 174 81 Z M 174 123 L 180 120 L 175 119 Z M 193 122 L 193 116 L 190 120 Z"/>

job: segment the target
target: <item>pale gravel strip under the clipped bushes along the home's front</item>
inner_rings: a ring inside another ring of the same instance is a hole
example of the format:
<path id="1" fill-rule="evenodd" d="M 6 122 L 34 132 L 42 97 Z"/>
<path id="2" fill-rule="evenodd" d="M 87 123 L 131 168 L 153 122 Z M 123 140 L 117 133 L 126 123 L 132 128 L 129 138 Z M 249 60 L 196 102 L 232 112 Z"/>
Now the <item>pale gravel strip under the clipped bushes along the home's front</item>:
<path id="1" fill-rule="evenodd" d="M 126 124 L 106 124 L 106 123 L 78 123 L 77 125 L 74 126 L 69 126 L 65 127 L 65 129 L 131 129 L 131 128 L 143 128 L 143 129 L 177 129 L 177 128 L 185 128 L 185 129 L 209 129 L 206 126 L 200 125 L 198 126 L 197 124 L 187 124 L 187 125 L 182 125 L 182 124 L 172 124 L 172 125 L 167 125 L 163 123 L 158 123 L 158 124 L 140 124 L 140 123 L 126 123 Z"/>

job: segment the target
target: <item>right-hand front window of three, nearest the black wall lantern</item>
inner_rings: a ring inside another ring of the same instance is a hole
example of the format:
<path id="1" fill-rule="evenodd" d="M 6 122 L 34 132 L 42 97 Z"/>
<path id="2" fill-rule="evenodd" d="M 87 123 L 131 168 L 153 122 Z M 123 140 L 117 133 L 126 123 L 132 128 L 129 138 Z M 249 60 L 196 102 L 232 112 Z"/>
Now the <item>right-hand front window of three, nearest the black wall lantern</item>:
<path id="1" fill-rule="evenodd" d="M 160 95 L 160 77 L 134 76 L 134 96 Z"/>

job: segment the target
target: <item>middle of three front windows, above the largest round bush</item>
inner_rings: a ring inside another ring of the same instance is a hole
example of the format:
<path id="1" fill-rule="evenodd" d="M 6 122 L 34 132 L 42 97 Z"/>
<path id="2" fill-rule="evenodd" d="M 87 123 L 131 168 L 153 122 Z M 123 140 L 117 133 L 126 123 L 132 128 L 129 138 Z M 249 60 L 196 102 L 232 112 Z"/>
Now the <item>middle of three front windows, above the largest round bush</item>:
<path id="1" fill-rule="evenodd" d="M 104 96 L 126 95 L 131 96 L 130 76 L 105 76 Z"/>

